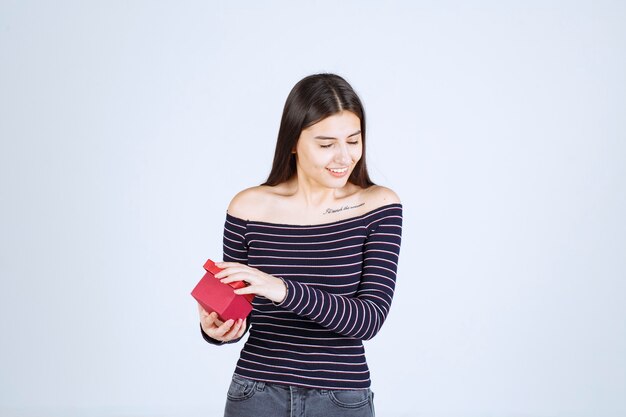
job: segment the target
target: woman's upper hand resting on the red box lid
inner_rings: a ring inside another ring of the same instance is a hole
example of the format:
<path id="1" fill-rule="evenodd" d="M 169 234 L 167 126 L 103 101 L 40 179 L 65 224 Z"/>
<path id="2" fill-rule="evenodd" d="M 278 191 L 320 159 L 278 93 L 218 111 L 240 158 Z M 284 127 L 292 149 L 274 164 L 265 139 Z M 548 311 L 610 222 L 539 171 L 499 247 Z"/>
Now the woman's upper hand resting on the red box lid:
<path id="1" fill-rule="evenodd" d="M 224 284 L 245 281 L 249 285 L 235 290 L 235 294 L 256 294 L 275 303 L 280 303 L 287 296 L 287 286 L 282 279 L 237 262 L 215 262 L 223 271 L 215 274 Z"/>

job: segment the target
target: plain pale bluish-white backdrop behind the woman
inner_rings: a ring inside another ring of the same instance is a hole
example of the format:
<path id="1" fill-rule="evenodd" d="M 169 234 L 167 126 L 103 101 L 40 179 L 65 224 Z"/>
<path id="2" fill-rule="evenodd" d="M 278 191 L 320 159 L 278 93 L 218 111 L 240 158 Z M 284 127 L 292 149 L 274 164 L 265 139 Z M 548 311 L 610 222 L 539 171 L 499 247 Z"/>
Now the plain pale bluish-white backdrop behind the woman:
<path id="1" fill-rule="evenodd" d="M 378 415 L 626 415 L 624 22 L 619 1 L 2 0 L 0 415 L 220 415 L 241 345 L 202 341 L 189 292 L 322 71 L 360 93 L 405 209 L 366 344 Z"/>

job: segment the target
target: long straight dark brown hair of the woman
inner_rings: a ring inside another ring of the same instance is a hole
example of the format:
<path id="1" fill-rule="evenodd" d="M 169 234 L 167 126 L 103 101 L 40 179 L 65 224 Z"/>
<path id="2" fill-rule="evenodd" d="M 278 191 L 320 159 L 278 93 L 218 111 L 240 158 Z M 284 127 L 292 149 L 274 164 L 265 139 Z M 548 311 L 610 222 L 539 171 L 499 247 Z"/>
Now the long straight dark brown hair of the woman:
<path id="1" fill-rule="evenodd" d="M 363 154 L 348 181 L 363 188 L 374 185 L 365 164 L 365 111 L 359 96 L 346 80 L 335 74 L 315 74 L 300 80 L 291 90 L 280 120 L 272 171 L 262 185 L 278 185 L 296 172 L 292 153 L 303 129 L 341 111 L 351 111 L 361 121 Z"/>

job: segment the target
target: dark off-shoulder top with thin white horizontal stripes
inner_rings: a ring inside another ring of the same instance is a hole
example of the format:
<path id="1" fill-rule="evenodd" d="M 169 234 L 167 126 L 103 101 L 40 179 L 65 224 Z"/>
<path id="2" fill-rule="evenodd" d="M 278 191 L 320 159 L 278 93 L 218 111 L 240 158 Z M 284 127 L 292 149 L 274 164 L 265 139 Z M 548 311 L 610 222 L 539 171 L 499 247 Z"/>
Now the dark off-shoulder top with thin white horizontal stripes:
<path id="1" fill-rule="evenodd" d="M 311 226 L 227 214 L 224 260 L 287 285 L 281 303 L 255 297 L 235 373 L 309 388 L 368 388 L 363 340 L 389 313 L 401 234 L 399 203 Z"/>

